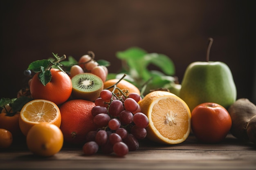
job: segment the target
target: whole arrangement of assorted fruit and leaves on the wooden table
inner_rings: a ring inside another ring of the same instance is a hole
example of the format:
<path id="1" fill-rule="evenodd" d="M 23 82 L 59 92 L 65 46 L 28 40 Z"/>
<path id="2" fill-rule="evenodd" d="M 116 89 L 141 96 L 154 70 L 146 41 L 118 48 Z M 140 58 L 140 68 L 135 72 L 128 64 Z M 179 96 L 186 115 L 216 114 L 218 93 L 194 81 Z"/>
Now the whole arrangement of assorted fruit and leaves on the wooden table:
<path id="1" fill-rule="evenodd" d="M 24 71 L 28 86 L 16 98 L 0 99 L 0 149 L 24 138 L 43 157 L 64 143 L 81 147 L 83 155 L 124 157 L 142 139 L 172 145 L 193 134 L 213 144 L 229 132 L 256 143 L 256 106 L 236 99 L 225 63 L 209 61 L 212 42 L 207 62 L 190 64 L 181 84 L 169 57 L 136 47 L 117 53 L 125 63 L 119 73 L 108 73 L 110 63 L 95 60 L 92 51 L 78 61 L 53 53 L 31 62 Z M 148 70 L 152 63 L 162 72 Z"/>

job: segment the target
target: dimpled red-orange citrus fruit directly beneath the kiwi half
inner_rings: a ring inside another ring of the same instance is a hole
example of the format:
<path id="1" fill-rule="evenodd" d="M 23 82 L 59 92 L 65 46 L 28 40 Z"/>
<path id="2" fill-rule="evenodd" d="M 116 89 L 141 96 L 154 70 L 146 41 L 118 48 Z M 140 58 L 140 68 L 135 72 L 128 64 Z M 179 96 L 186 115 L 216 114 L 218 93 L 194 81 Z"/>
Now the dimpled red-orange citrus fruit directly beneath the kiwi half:
<path id="1" fill-rule="evenodd" d="M 94 106 L 94 102 L 83 99 L 69 100 L 60 106 L 60 128 L 64 135 L 64 141 L 71 144 L 85 143 L 85 135 L 97 129 L 91 113 Z"/>

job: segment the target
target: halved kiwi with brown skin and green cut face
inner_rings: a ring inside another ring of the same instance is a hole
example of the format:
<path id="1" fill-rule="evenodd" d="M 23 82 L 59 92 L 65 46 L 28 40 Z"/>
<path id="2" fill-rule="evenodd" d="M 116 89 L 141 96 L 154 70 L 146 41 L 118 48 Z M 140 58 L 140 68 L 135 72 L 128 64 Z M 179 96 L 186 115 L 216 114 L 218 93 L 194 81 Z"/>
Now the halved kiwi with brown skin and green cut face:
<path id="1" fill-rule="evenodd" d="M 103 82 L 100 77 L 92 73 L 81 73 L 72 79 L 72 98 L 84 99 L 94 102 L 103 90 Z"/>

